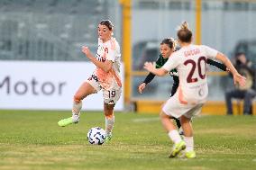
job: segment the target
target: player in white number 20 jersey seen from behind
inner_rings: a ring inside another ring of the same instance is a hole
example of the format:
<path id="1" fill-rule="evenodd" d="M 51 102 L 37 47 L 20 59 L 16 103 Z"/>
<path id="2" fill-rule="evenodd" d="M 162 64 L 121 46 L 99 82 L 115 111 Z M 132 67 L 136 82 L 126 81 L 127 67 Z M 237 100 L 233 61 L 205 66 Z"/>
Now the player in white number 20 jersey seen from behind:
<path id="1" fill-rule="evenodd" d="M 174 142 L 169 157 L 178 157 L 185 150 L 184 157 L 194 158 L 193 130 L 191 118 L 201 112 L 206 103 L 208 85 L 206 79 L 206 60 L 215 58 L 222 61 L 233 74 L 234 84 L 245 85 L 246 78 L 241 76 L 233 67 L 231 61 L 221 52 L 205 45 L 192 44 L 192 31 L 188 29 L 187 22 L 183 22 L 177 32 L 181 49 L 171 54 L 171 59 L 163 67 L 156 68 L 153 63 L 145 62 L 144 68 L 156 76 L 165 76 L 171 69 L 177 68 L 179 76 L 178 91 L 163 105 L 160 120 L 169 139 Z M 169 116 L 179 118 L 184 138 Z M 180 156 L 181 157 L 181 156 Z"/>

